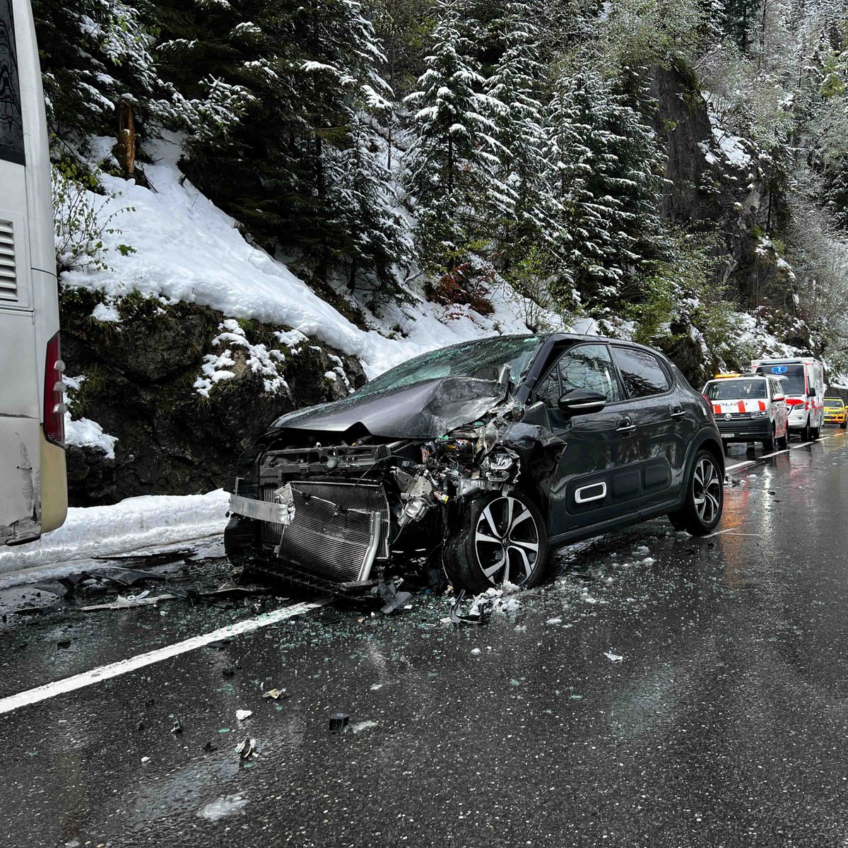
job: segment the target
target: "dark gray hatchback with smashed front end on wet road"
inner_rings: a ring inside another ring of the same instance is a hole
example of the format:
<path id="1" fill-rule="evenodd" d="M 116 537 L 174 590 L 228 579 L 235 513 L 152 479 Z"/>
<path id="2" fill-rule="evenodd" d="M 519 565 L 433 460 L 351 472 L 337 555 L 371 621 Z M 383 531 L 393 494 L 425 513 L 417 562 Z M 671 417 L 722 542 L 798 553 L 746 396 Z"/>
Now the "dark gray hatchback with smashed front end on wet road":
<path id="1" fill-rule="evenodd" d="M 700 535 L 722 514 L 703 397 L 654 350 L 563 333 L 416 357 L 282 416 L 242 468 L 232 561 L 337 591 L 416 567 L 529 587 L 551 545 L 662 515 Z"/>

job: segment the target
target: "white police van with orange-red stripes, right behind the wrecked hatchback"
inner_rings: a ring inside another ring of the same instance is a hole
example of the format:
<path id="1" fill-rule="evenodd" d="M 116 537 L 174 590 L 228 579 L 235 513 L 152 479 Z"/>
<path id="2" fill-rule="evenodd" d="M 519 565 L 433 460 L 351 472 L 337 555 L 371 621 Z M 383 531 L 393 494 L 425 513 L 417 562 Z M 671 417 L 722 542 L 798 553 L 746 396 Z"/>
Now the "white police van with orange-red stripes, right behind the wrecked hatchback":
<path id="1" fill-rule="evenodd" d="M 701 393 L 716 419 L 725 449 L 729 442 L 762 442 L 767 452 L 789 440 L 784 380 L 777 375 L 717 374 Z"/>

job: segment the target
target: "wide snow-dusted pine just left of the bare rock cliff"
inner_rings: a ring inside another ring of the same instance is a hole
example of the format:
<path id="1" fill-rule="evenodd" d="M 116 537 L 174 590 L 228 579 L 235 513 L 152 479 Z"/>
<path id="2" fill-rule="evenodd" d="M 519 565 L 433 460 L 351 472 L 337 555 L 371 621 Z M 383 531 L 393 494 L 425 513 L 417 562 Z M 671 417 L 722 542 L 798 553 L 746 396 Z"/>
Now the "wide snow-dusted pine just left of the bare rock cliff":
<path id="1" fill-rule="evenodd" d="M 590 309 L 614 308 L 633 297 L 641 259 L 656 253 L 661 151 L 639 113 L 592 70 L 555 81 L 547 132 L 565 255 L 552 293 L 569 307 L 573 286 Z"/>

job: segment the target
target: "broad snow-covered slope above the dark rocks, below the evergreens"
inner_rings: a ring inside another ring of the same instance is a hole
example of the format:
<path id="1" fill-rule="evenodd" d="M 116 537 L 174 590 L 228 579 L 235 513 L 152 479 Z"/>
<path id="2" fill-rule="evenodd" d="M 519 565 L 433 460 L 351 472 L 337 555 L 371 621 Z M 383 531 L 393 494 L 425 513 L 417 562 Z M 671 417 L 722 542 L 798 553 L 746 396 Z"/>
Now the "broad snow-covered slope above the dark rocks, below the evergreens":
<path id="1" fill-rule="evenodd" d="M 493 293 L 495 311 L 488 317 L 469 310 L 450 319 L 443 307 L 421 299 L 404 305 L 405 338 L 387 338 L 377 329 L 360 330 L 286 265 L 248 244 L 236 221 L 184 179 L 176 165 L 179 153 L 179 146 L 169 141 L 153 150 L 157 164 L 145 167 L 153 191 L 132 180 L 102 176 L 104 187 L 116 195 L 98 211 L 103 220 L 117 212 L 109 225 L 115 232 L 103 233 L 109 267 L 66 272 L 64 285 L 102 290 L 109 303 L 137 290 L 172 303 L 209 306 L 228 318 L 294 327 L 359 357 L 368 377 L 446 344 L 528 332 L 513 302 L 517 298 L 509 292 Z M 119 244 L 130 245 L 134 252 L 121 251 Z M 107 320 L 108 314 L 104 308 Z"/>

